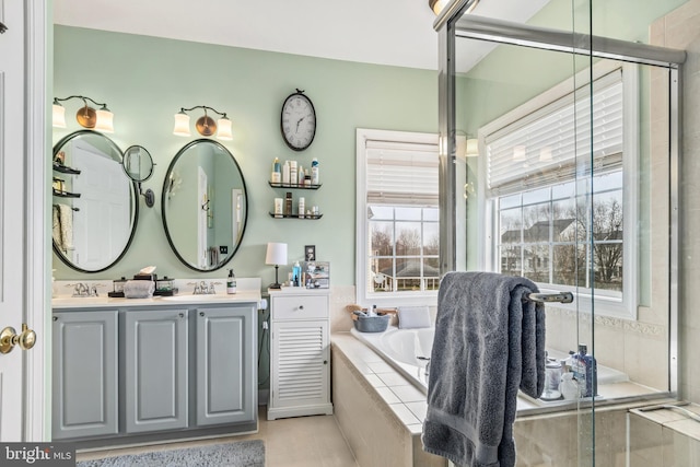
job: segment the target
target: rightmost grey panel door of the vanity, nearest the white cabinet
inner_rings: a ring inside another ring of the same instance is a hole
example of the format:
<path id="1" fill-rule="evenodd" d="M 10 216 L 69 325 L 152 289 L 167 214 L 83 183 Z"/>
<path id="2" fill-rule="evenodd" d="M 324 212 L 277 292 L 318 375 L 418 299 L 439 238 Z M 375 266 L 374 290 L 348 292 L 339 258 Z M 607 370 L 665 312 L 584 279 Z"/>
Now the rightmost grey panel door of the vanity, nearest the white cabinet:
<path id="1" fill-rule="evenodd" d="M 255 421 L 257 311 L 197 310 L 197 425 Z"/>

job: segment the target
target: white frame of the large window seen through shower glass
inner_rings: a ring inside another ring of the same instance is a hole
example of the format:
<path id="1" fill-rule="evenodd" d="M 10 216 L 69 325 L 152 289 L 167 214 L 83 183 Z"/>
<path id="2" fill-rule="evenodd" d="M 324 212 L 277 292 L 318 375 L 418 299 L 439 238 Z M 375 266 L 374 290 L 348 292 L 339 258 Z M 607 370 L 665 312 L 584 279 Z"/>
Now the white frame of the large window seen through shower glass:
<path id="1" fill-rule="evenodd" d="M 622 70 L 622 96 L 623 96 L 623 141 L 622 141 L 622 212 L 625 219 L 625 226 L 622 233 L 622 294 L 621 297 L 609 296 L 605 290 L 600 290 L 600 293 L 594 289 L 594 293 L 591 293 L 591 289 L 582 289 L 580 287 L 568 285 L 552 285 L 538 283 L 538 287 L 542 292 L 572 292 L 575 300 L 571 304 L 557 304 L 557 307 L 561 307 L 570 311 L 580 310 L 594 310 L 595 315 L 604 315 L 614 318 L 623 318 L 630 320 L 637 320 L 638 317 L 638 287 L 639 287 L 639 272 L 637 270 L 638 265 L 638 242 L 637 242 L 637 225 L 638 217 L 638 180 L 634 175 L 638 173 L 638 160 L 640 143 L 637 138 L 639 133 L 639 66 L 634 63 L 619 63 L 605 61 L 593 67 L 593 70 L 583 70 L 576 75 L 565 80 L 564 82 L 555 85 L 548 91 L 539 94 L 523 105 L 514 108 L 510 113 L 502 117 L 485 125 L 478 130 L 479 147 L 486 148 L 486 139 L 489 135 L 513 124 L 514 121 L 525 118 L 527 115 L 536 112 L 545 105 L 553 103 L 558 100 L 564 98 L 571 94 L 574 87 L 579 87 L 578 83 L 585 83 L 591 79 L 593 72 L 593 80 L 602 78 L 611 71 L 617 69 Z M 485 154 L 481 151 L 481 154 Z M 479 177 L 482 183 L 479 184 L 479 195 L 485 199 L 485 202 L 479 203 L 478 219 L 479 225 L 479 244 L 483 245 L 481 255 L 477 258 L 477 262 L 480 268 L 491 271 L 500 271 L 500 258 L 497 245 L 500 243 L 497 236 L 499 233 L 499 196 L 494 195 L 489 197 L 486 187 L 488 164 L 483 161 L 479 164 Z M 595 175 L 595 173 L 594 173 Z M 571 180 L 575 180 L 572 178 Z M 563 182 L 563 180 L 562 180 Z M 546 186 L 553 186 L 556 184 L 544 184 L 538 187 L 528 187 L 517 192 L 525 192 L 530 189 L 544 188 Z M 556 287 L 556 289 L 555 289 Z M 595 306 L 595 307 L 594 307 Z"/>

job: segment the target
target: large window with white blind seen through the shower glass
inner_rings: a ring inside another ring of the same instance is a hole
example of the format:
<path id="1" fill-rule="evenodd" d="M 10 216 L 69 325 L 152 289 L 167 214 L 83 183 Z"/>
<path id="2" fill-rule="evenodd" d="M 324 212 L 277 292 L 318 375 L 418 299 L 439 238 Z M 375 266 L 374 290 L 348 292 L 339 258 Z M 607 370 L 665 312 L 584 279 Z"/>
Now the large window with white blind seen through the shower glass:
<path id="1" fill-rule="evenodd" d="M 635 318 L 635 69 L 594 70 L 592 97 L 564 83 L 480 130 L 489 262 Z"/>

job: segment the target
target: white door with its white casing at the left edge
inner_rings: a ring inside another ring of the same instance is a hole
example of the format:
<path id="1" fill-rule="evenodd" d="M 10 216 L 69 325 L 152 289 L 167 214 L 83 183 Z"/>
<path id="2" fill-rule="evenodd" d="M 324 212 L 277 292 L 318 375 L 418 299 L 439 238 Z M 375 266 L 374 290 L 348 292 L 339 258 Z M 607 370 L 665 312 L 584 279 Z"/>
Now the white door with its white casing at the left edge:
<path id="1" fill-rule="evenodd" d="M 1 442 L 47 441 L 45 14 L 45 2 L 0 0 L 0 330 L 27 323 L 38 336 L 28 351 L 0 339 L 12 348 L 0 353 Z"/>

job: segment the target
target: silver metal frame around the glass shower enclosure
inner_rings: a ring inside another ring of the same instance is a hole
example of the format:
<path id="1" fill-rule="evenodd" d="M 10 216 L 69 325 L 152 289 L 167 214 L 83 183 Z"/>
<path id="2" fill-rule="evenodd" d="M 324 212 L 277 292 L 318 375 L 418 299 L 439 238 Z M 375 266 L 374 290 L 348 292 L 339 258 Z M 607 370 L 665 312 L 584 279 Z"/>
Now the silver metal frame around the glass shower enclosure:
<path id="1" fill-rule="evenodd" d="M 452 0 L 435 20 L 439 37 L 440 273 L 466 269 L 466 241 L 457 235 L 456 37 L 564 51 L 669 71 L 669 296 L 668 393 L 678 392 L 679 162 L 682 50 L 464 14 L 477 0 Z M 464 237 L 464 235 L 463 235 Z"/>

